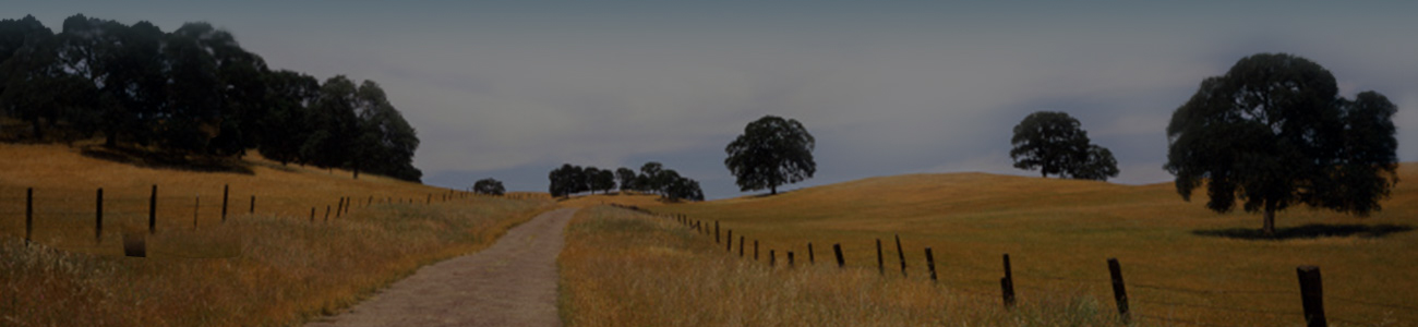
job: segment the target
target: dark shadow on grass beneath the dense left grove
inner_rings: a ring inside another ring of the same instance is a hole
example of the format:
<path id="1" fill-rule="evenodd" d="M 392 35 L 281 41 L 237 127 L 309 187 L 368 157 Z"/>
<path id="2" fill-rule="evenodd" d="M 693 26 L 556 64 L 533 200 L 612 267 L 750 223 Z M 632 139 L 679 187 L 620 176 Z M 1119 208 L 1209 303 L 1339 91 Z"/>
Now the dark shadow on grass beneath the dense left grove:
<path id="1" fill-rule="evenodd" d="M 149 151 L 129 147 L 86 146 L 79 154 L 98 160 L 132 164 L 147 168 L 184 170 L 200 173 L 255 174 L 240 159 L 186 156 L 177 153 Z"/>

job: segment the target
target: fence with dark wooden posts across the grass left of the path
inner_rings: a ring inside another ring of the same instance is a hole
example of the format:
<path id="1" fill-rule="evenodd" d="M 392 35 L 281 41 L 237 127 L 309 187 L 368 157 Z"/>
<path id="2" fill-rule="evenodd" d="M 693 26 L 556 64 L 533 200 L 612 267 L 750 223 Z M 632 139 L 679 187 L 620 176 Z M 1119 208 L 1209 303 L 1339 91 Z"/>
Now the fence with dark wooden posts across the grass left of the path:
<path id="1" fill-rule="evenodd" d="M 302 197 L 269 197 L 254 193 L 241 193 L 240 190 L 233 190 L 230 185 L 223 185 L 220 190 L 210 190 L 214 195 L 208 195 L 206 198 L 201 191 L 207 190 L 172 191 L 160 188 L 159 185 L 152 185 L 140 190 L 108 190 L 106 194 L 104 188 L 94 188 L 92 193 L 75 191 L 72 188 L 37 190 L 33 187 L 24 188 L 23 193 L 6 191 L 0 193 L 0 219 L 3 219 L 0 221 L 0 232 L 11 234 L 10 231 L 17 231 L 18 225 L 14 224 L 17 219 L 4 219 L 9 217 L 17 217 L 24 221 L 23 238 L 27 245 L 35 242 L 35 226 L 44 226 L 44 229 L 51 234 L 50 239 L 58 239 L 55 242 L 74 242 L 68 238 L 75 234 L 75 229 L 86 229 L 84 225 L 92 225 L 94 238 L 91 245 L 81 246 L 101 246 L 104 243 L 105 225 L 109 225 L 112 229 L 112 224 L 115 221 L 119 224 L 145 226 L 146 234 L 153 235 L 172 228 L 187 228 L 187 217 L 191 217 L 190 228 L 199 229 L 203 226 L 221 225 L 227 222 L 227 219 L 237 218 L 240 214 L 255 215 L 259 212 L 274 217 L 303 218 L 305 212 L 301 211 L 301 208 L 305 207 L 311 208 L 308 215 L 309 222 L 315 222 L 318 211 L 322 210 L 323 215 L 320 215 L 319 221 L 329 222 L 332 218 L 340 219 L 349 215 L 352 210 L 376 204 L 434 204 L 469 200 L 475 197 L 509 200 L 533 198 L 532 195 L 498 197 L 448 190 L 445 193 L 427 193 L 417 195 L 345 195 L 322 201 Z M 216 194 L 220 194 L 220 197 Z M 112 234 L 112 231 L 109 234 Z M 14 235 L 20 236 L 17 232 Z M 125 255 L 139 258 L 146 256 L 149 251 L 143 243 L 145 235 L 142 232 L 135 234 L 125 231 L 122 236 Z"/>

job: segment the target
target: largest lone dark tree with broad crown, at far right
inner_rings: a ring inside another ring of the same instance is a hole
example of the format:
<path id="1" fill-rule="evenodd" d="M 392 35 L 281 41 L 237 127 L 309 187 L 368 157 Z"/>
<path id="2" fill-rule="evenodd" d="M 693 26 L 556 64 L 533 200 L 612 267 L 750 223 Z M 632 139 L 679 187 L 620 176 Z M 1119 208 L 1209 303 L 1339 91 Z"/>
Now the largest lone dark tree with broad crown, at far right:
<path id="1" fill-rule="evenodd" d="M 1246 212 L 1295 204 L 1358 217 L 1378 211 L 1398 183 L 1394 123 L 1398 108 L 1377 92 L 1337 95 L 1334 75 L 1289 54 L 1256 54 L 1207 78 L 1167 125 L 1167 164 L 1177 193 L 1207 187 L 1207 208 Z"/>

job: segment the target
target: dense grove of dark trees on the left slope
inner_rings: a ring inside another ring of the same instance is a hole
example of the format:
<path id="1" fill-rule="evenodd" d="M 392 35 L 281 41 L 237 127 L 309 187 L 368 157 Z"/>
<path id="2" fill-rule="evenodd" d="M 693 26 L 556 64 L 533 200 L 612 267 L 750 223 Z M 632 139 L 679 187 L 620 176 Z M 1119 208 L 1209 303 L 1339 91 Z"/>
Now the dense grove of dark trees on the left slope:
<path id="1" fill-rule="evenodd" d="M 423 177 L 418 137 L 379 84 L 271 71 L 207 23 L 163 33 L 75 14 L 55 34 L 33 16 L 0 20 L 0 115 L 37 142 L 102 136 L 109 147 L 234 157 L 257 149 L 356 178 Z"/>

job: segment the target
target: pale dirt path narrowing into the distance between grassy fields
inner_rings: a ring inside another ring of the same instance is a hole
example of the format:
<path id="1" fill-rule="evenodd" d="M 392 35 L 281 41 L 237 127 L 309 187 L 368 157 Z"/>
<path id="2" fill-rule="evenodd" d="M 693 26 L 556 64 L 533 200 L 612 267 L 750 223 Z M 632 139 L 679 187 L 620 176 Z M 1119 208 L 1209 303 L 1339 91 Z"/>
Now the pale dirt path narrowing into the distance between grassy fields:
<path id="1" fill-rule="evenodd" d="M 424 266 L 349 311 L 306 327 L 562 326 L 556 256 L 574 212 L 537 215 L 491 248 Z"/>

